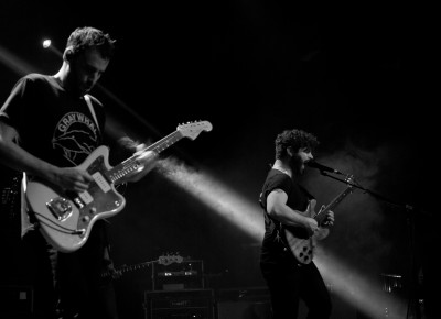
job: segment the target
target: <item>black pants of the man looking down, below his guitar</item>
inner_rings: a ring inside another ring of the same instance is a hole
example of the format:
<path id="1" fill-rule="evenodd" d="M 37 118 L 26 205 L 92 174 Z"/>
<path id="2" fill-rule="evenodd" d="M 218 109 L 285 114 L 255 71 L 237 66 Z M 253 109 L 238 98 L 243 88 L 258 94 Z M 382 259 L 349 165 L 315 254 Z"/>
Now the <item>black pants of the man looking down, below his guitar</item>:
<path id="1" fill-rule="evenodd" d="M 107 244 L 101 232 L 96 223 L 85 245 L 72 253 L 56 252 L 39 231 L 25 234 L 33 264 L 35 318 L 118 318 L 112 284 L 99 277 Z"/>

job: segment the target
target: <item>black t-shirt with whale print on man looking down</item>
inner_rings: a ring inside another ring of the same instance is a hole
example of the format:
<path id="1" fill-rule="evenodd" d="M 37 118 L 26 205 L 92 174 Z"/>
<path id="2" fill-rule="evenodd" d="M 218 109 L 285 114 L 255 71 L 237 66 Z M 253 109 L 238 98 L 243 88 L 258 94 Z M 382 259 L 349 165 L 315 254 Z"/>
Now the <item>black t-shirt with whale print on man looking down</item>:
<path id="1" fill-rule="evenodd" d="M 77 166 L 103 144 L 105 113 L 92 97 L 92 114 L 84 97 L 66 91 L 52 76 L 21 78 L 0 110 L 0 120 L 15 128 L 20 145 L 61 167 Z"/>

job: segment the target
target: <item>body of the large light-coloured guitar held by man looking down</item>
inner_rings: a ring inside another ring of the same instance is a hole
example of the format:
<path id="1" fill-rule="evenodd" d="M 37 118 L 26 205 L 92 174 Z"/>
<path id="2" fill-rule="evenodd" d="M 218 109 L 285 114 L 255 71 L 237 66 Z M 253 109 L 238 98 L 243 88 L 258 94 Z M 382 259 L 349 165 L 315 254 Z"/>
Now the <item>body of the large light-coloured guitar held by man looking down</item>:
<path id="1" fill-rule="evenodd" d="M 111 217 L 126 205 L 107 177 L 109 150 L 99 146 L 78 167 L 94 182 L 82 194 L 65 193 L 41 180 L 30 180 L 26 200 L 46 240 L 58 251 L 73 252 L 87 241 L 94 223 Z"/>

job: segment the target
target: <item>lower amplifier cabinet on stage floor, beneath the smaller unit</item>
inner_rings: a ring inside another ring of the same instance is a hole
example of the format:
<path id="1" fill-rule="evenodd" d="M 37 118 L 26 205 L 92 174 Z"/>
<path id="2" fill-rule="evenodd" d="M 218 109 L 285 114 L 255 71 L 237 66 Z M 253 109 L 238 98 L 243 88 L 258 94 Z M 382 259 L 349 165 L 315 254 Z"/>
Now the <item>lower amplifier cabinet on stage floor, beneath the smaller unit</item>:
<path id="1" fill-rule="evenodd" d="M 212 289 L 144 292 L 146 319 L 214 319 Z"/>

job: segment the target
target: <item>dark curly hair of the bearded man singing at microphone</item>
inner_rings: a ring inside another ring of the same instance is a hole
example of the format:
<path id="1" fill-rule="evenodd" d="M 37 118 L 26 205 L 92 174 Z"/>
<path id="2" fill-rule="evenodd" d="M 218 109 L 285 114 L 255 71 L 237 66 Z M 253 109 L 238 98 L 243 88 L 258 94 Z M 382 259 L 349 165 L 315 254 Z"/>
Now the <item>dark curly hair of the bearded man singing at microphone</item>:
<path id="1" fill-rule="evenodd" d="M 293 152 L 300 148 L 308 147 L 313 151 L 319 144 L 319 140 L 311 133 L 302 130 L 284 130 L 276 138 L 276 160 L 282 158 L 287 155 L 287 148 L 292 147 Z"/>

